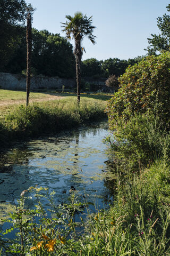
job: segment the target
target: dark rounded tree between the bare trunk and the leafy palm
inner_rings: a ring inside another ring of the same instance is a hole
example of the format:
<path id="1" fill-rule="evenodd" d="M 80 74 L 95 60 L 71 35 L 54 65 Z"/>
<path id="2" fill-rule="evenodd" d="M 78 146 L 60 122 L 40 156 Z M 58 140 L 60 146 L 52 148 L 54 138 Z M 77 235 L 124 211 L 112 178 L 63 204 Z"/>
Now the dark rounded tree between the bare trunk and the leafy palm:
<path id="1" fill-rule="evenodd" d="M 74 77 L 75 61 L 73 46 L 60 34 L 52 34 L 47 30 L 33 30 L 32 65 L 39 74 Z"/>

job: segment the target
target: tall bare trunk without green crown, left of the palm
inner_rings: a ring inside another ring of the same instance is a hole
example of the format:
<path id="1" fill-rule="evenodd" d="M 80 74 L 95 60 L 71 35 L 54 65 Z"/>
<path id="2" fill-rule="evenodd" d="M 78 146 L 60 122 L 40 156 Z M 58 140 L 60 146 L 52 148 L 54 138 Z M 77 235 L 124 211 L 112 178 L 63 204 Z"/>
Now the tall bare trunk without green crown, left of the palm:
<path id="1" fill-rule="evenodd" d="M 27 15 L 27 101 L 26 106 L 29 104 L 29 93 L 31 83 L 31 49 L 32 49 L 32 38 L 31 38 L 31 13 L 28 11 Z"/>

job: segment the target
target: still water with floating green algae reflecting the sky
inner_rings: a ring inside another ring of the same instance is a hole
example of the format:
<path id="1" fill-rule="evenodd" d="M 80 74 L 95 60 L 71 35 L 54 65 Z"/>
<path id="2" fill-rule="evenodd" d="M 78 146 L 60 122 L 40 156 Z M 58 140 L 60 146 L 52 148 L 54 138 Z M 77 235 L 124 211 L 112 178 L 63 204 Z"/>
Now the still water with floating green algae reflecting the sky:
<path id="1" fill-rule="evenodd" d="M 107 135 L 103 122 L 20 143 L 1 154 L 0 217 L 13 209 L 23 190 L 36 185 L 55 190 L 56 204 L 66 202 L 73 187 L 82 200 L 105 207 L 112 198 L 108 183 L 113 179 L 105 164 Z M 34 203 L 30 199 L 29 207 Z"/>

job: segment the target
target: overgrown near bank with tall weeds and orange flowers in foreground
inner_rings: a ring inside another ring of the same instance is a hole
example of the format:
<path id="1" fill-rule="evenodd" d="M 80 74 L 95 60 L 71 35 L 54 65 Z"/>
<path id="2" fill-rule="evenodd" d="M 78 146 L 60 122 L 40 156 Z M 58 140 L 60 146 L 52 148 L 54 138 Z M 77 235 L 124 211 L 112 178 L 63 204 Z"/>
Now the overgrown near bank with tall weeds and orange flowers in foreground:
<path id="1" fill-rule="evenodd" d="M 96 207 L 94 213 L 89 211 L 87 218 L 80 218 L 86 211 L 84 204 L 88 211 L 90 202 L 86 198 L 86 203 L 82 204 L 74 187 L 70 191 L 70 203 L 58 206 L 54 203 L 56 194 L 48 192 L 47 188 L 33 185 L 24 190 L 19 205 L 10 215 L 11 228 L 3 235 L 11 233 L 13 228 L 15 232 L 21 228 L 24 231 L 19 232 L 18 241 L 13 241 L 12 247 L 6 250 L 15 252 L 18 248 L 20 252 L 23 236 L 24 251 L 28 255 L 170 255 L 170 137 L 158 129 L 159 124 L 159 119 L 152 115 L 135 116 L 114 133 L 117 139 L 126 138 L 126 142 L 115 147 L 114 140 L 107 139 L 114 153 L 114 158 L 108 161 L 112 168 L 113 179 L 109 186 L 113 187 L 114 200 L 108 198 L 110 209 L 107 211 Z M 158 145 L 162 145 L 159 150 Z M 154 153 L 156 148 L 157 154 Z M 143 159 L 146 166 L 141 165 Z M 27 203 L 24 205 L 32 194 L 37 198 L 36 210 L 27 209 Z M 45 200 L 49 199 L 49 211 L 44 209 L 41 194 Z M 40 221 L 35 221 L 37 214 Z M 8 241 L 5 243 L 3 238 L 1 245 L 7 247 Z M 10 252 L 3 252 L 3 255 L 10 255 Z"/>

